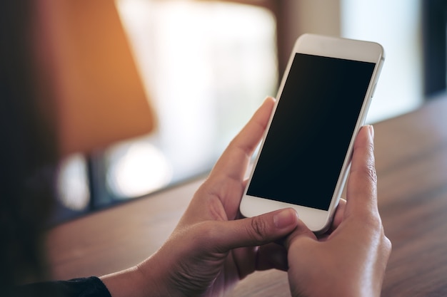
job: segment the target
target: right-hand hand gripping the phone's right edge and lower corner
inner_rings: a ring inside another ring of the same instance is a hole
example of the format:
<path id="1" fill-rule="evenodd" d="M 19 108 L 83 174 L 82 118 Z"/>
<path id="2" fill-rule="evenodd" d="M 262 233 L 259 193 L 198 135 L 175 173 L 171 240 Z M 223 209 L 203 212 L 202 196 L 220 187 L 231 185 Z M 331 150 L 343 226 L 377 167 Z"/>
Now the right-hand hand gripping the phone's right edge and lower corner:
<path id="1" fill-rule="evenodd" d="M 377 209 L 372 126 L 358 133 L 347 187 L 333 230 L 317 238 L 299 222 L 286 239 L 292 296 L 380 296 L 391 242 Z"/>

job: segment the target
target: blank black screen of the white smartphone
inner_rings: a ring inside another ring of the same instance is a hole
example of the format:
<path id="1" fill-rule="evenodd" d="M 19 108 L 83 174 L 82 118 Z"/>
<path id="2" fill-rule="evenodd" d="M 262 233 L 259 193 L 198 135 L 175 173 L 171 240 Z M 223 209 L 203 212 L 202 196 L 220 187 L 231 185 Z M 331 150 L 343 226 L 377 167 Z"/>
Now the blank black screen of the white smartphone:
<path id="1" fill-rule="evenodd" d="M 248 195 L 328 210 L 374 67 L 296 53 Z"/>

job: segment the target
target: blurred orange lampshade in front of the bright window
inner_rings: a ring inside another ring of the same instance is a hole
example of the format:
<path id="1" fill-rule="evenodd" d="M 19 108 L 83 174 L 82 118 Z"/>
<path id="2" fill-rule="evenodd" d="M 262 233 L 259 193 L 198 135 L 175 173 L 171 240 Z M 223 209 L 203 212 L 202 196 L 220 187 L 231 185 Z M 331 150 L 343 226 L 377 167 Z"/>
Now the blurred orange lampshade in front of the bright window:
<path id="1" fill-rule="evenodd" d="M 39 16 L 62 155 L 154 129 L 114 1 L 40 0 Z"/>

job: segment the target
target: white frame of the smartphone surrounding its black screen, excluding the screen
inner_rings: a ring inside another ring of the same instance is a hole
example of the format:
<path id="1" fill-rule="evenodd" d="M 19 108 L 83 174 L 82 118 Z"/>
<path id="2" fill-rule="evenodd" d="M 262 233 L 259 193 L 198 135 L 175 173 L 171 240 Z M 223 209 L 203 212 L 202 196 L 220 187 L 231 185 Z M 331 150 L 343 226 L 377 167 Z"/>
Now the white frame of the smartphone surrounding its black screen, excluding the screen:
<path id="1" fill-rule="evenodd" d="M 331 197 L 331 203 L 327 211 L 321 209 L 313 209 L 310 207 L 303 207 L 296 204 L 289 204 L 286 202 L 278 202 L 276 200 L 265 199 L 261 197 L 252 197 L 246 194 L 248 186 L 251 182 L 251 177 L 253 176 L 253 172 L 256 168 L 256 163 L 258 162 L 258 157 L 259 155 L 261 155 L 260 153 L 263 147 L 263 142 L 266 139 L 266 135 L 271 125 L 273 115 L 276 112 L 276 107 L 279 100 L 281 100 L 281 93 L 283 91 L 284 84 L 286 83 L 286 78 L 290 71 L 295 53 L 306 53 L 315 56 L 342 58 L 353 61 L 365 61 L 376 64 L 373 70 L 373 75 L 371 75 L 371 80 L 369 82 L 365 98 L 363 99 L 361 112 L 357 119 L 356 127 L 354 128 L 353 137 L 351 137 L 351 142 L 348 146 L 348 151 L 343 162 L 343 167 L 341 168 L 341 173 L 338 176 L 338 181 L 333 191 L 333 197 Z M 255 217 L 259 214 L 272 212 L 276 209 L 292 207 L 296 209 L 299 218 L 306 224 L 306 226 L 308 226 L 309 229 L 311 229 L 311 231 L 315 232 L 316 234 L 321 234 L 328 229 L 328 227 L 331 225 L 333 215 L 341 197 L 341 192 L 343 191 L 344 184 L 346 183 L 349 168 L 351 167 L 353 143 L 358 130 L 360 130 L 361 126 L 363 126 L 365 123 L 366 114 L 373 97 L 373 92 L 376 88 L 376 83 L 381 71 L 381 67 L 383 66 L 384 59 L 385 54 L 383 51 L 383 47 L 378 43 L 370 41 L 358 41 L 331 36 L 320 36 L 316 34 L 304 34 L 297 39 L 295 45 L 293 46 L 291 57 L 288 60 L 286 71 L 284 72 L 285 74 L 283 75 L 283 78 L 281 80 L 281 85 L 278 88 L 276 104 L 271 113 L 267 129 L 264 132 L 263 140 L 261 142 L 261 149 L 258 151 L 256 160 L 248 178 L 245 192 L 243 193 L 243 197 L 241 199 L 240 210 L 243 216 Z"/>

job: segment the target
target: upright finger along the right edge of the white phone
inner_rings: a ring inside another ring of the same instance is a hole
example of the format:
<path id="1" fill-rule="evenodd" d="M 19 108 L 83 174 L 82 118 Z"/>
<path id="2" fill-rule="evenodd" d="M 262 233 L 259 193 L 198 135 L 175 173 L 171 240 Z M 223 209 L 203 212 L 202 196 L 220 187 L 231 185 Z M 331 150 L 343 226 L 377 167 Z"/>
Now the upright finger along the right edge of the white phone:
<path id="1" fill-rule="evenodd" d="M 373 127 L 361 128 L 354 143 L 346 197 L 347 212 L 377 209 L 377 177 L 374 161 Z"/>

